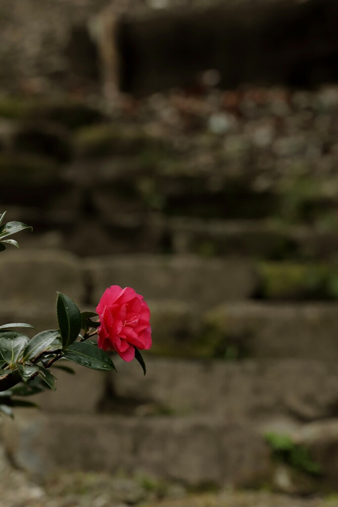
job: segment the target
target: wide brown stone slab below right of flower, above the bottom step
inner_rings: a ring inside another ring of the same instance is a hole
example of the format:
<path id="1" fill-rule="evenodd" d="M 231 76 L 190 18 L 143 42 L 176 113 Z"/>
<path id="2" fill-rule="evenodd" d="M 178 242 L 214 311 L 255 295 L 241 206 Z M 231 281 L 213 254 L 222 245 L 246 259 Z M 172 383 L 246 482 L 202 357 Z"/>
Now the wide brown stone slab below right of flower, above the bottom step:
<path id="1" fill-rule="evenodd" d="M 229 363 L 147 356 L 146 364 L 144 379 L 138 365 L 121 363 L 118 375 L 109 374 L 114 389 L 110 400 L 106 397 L 107 410 L 114 412 L 119 399 L 120 403 L 124 399 L 132 400 L 136 412 L 144 415 L 208 413 L 224 421 L 248 419 L 258 424 L 266 419 L 267 426 L 277 416 L 301 422 L 337 414 L 335 363 L 301 359 Z"/>

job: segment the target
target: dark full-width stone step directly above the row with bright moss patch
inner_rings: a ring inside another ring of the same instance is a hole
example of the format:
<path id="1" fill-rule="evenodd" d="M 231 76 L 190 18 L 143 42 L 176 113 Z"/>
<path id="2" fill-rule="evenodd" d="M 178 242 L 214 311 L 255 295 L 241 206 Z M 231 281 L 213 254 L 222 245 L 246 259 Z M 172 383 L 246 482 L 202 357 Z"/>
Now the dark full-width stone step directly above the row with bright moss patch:
<path id="1" fill-rule="evenodd" d="M 61 198 L 60 198 L 61 199 Z M 293 226 L 269 220 L 201 220 L 162 213 L 115 213 L 81 219 L 81 191 L 68 189 L 66 209 L 41 213 L 35 207 L 6 206 L 8 220 L 34 228 L 21 244 L 32 248 L 64 248 L 81 257 L 131 253 L 171 253 L 213 257 L 246 256 L 257 260 L 334 260 L 338 234 L 334 228 Z M 56 198 L 56 201 L 58 199 Z M 92 238 L 88 242 L 88 235 Z"/>

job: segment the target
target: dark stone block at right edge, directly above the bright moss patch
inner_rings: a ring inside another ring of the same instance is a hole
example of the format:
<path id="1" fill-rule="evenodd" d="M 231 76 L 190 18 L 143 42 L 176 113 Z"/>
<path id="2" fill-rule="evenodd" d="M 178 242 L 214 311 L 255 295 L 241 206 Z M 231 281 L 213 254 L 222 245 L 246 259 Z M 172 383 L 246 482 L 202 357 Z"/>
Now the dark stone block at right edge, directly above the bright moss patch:
<path id="1" fill-rule="evenodd" d="M 160 228 L 160 225 L 158 225 Z M 178 217 L 162 225 L 179 255 L 245 255 L 257 259 L 335 258 L 338 234 L 306 226 L 255 220 L 200 220 Z"/>

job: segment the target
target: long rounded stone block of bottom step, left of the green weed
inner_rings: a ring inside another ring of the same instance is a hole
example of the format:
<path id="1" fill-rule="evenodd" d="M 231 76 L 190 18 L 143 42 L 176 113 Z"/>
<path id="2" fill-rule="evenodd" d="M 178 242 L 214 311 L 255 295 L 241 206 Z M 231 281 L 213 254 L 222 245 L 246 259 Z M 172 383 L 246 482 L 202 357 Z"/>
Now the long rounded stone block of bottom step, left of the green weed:
<path id="1" fill-rule="evenodd" d="M 36 476 L 69 470 L 125 470 L 198 485 L 245 486 L 270 470 L 269 449 L 250 425 L 210 418 L 135 418 L 27 413 L 6 421 L 17 466 Z M 62 442 L 62 445 L 60 445 Z"/>

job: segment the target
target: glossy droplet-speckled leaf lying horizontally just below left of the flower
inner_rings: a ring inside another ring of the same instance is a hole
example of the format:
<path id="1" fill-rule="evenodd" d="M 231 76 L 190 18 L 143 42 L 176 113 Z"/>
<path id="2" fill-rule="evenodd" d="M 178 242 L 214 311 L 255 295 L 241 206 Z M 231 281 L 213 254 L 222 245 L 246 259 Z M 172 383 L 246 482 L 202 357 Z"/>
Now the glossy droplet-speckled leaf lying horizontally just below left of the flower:
<path id="1" fill-rule="evenodd" d="M 64 357 L 73 363 L 91 368 L 92 370 L 115 370 L 110 357 L 101 349 L 86 342 L 74 342 L 64 351 Z"/>

